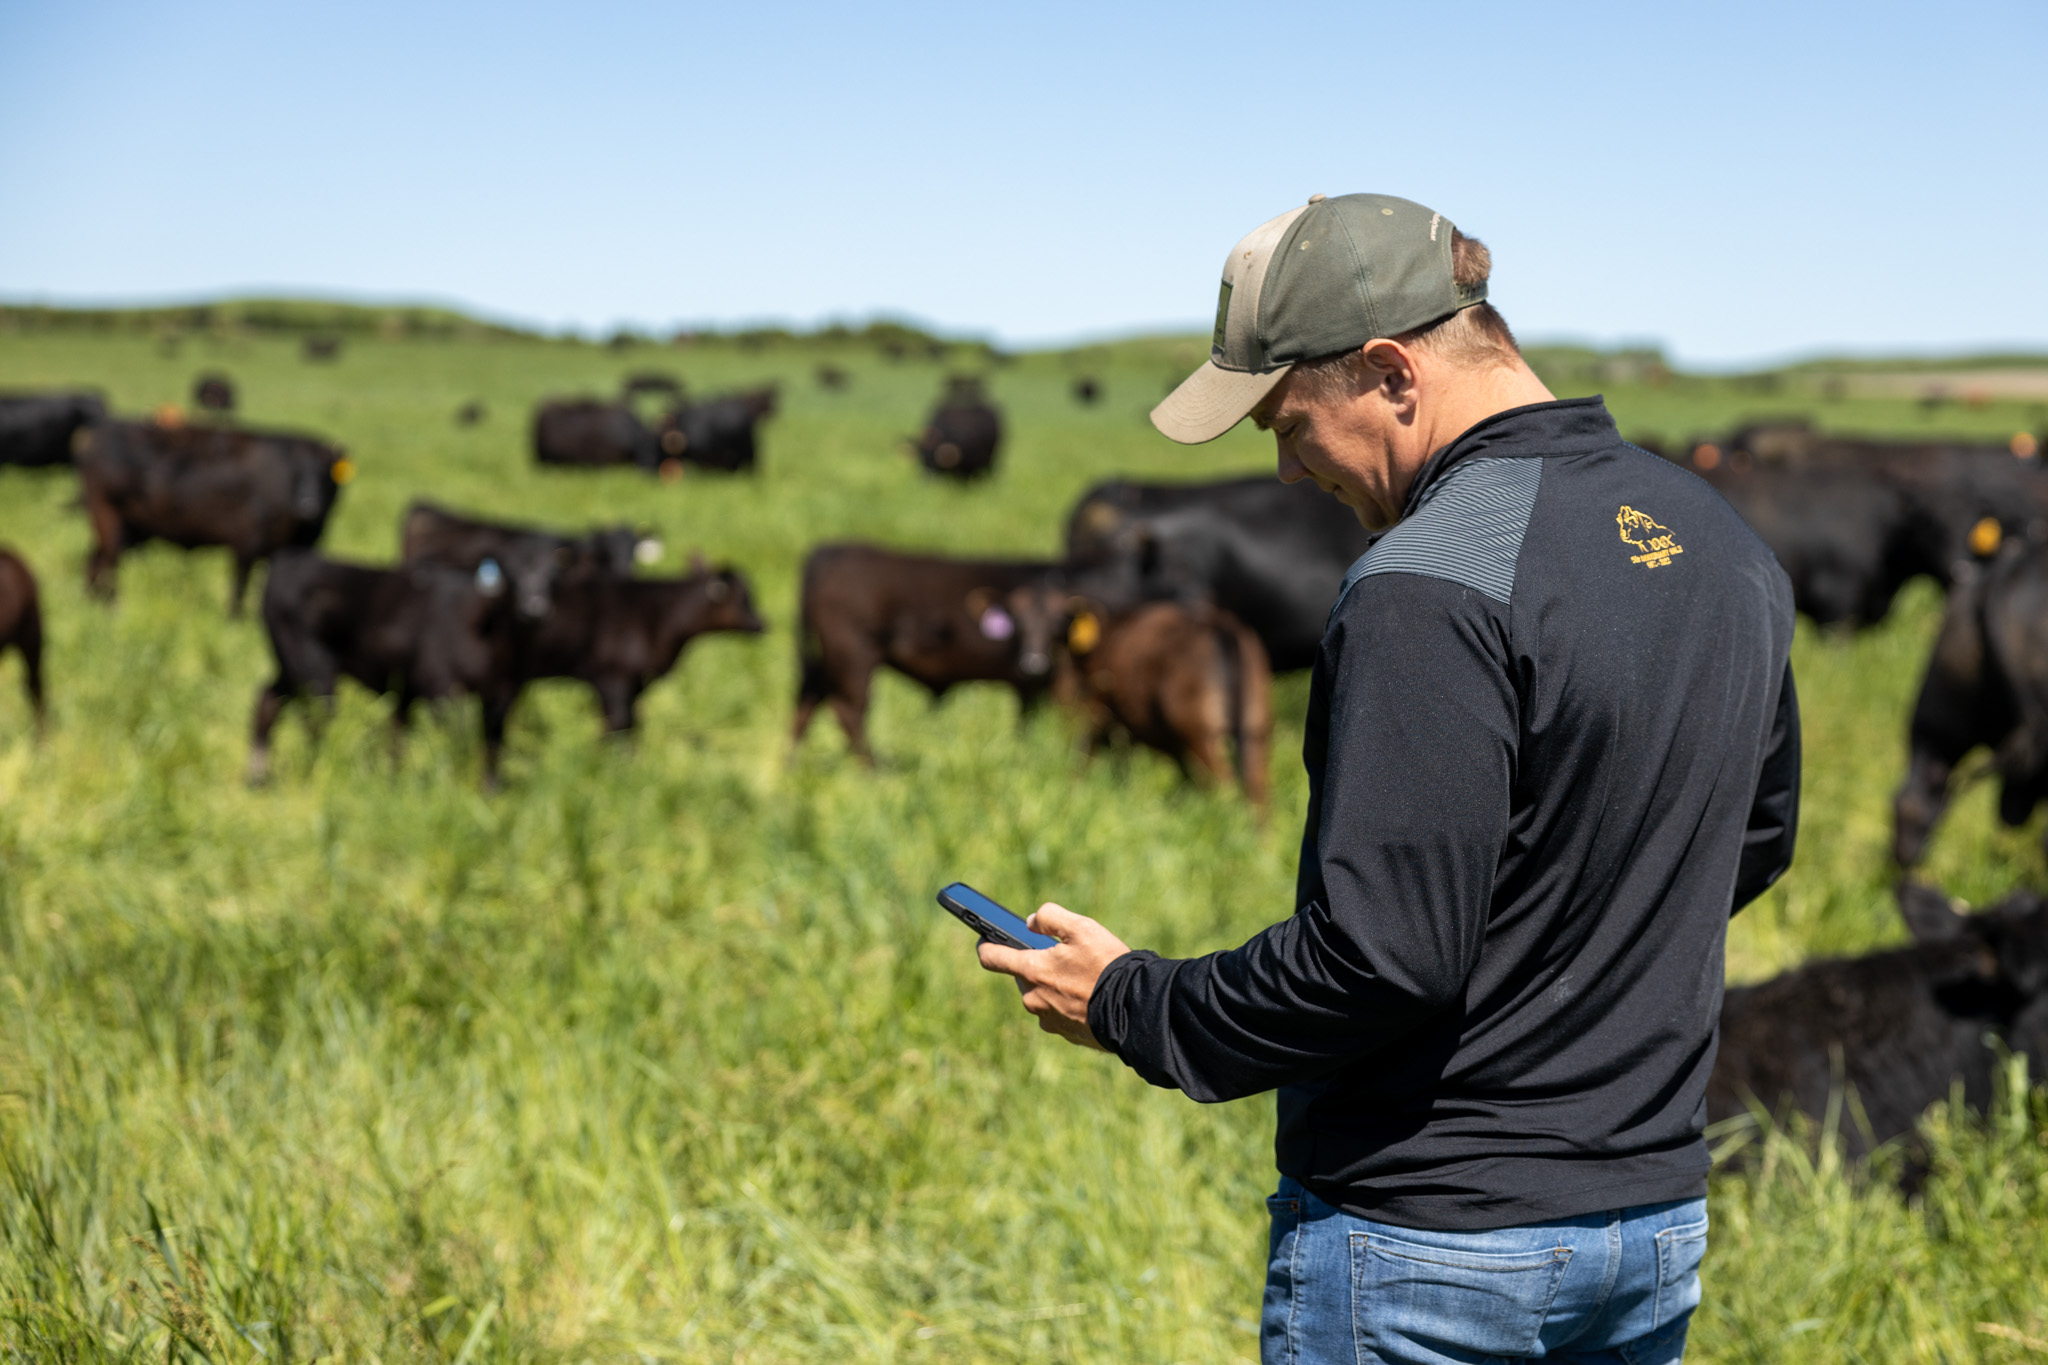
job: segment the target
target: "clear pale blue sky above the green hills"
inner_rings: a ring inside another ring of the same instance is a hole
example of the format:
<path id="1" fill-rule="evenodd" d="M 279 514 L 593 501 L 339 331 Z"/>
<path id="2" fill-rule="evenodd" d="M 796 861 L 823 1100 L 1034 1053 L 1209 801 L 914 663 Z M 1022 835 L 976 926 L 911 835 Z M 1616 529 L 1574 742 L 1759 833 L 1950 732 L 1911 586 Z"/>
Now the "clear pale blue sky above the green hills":
<path id="1" fill-rule="evenodd" d="M 1206 329 L 1311 192 L 1528 338 L 2048 350 L 2048 4 L 0 0 L 0 297 Z"/>

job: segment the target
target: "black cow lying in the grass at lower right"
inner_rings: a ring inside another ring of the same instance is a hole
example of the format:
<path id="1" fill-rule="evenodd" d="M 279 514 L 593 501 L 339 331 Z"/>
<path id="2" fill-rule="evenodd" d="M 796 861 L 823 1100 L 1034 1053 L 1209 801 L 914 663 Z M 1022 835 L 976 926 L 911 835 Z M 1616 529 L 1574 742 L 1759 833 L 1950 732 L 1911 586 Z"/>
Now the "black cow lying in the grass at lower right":
<path id="1" fill-rule="evenodd" d="M 1753 1103 L 1819 1119 L 1847 1085 L 1860 1115 L 1843 1115 L 1841 1136 L 1864 1154 L 1911 1134 L 1956 1081 L 1970 1105 L 1991 1101 L 1997 1054 L 1985 1036 L 2032 1038 L 2048 1001 L 2048 907 L 2017 892 L 1958 915 L 1915 884 L 1901 886 L 1898 907 L 1913 945 L 1808 962 L 1726 993 L 1706 1083 L 1710 1124 Z M 2032 1062 L 2048 1078 L 2048 1058 Z"/>

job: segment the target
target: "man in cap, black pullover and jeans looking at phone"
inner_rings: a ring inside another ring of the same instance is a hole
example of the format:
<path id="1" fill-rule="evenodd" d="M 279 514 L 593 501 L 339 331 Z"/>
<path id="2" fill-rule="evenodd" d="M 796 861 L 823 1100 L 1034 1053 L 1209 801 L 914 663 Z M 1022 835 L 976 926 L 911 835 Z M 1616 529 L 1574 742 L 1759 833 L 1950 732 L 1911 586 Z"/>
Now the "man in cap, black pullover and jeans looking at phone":
<path id="1" fill-rule="evenodd" d="M 1677 1361 L 1729 915 L 1792 860 L 1792 591 L 1706 483 L 1554 399 L 1421 205 L 1237 244 L 1210 360 L 1372 528 L 1309 694 L 1294 915 L 1174 962 L 1057 905 L 981 948 L 1049 1031 L 1280 1091 L 1266 1361 Z"/>

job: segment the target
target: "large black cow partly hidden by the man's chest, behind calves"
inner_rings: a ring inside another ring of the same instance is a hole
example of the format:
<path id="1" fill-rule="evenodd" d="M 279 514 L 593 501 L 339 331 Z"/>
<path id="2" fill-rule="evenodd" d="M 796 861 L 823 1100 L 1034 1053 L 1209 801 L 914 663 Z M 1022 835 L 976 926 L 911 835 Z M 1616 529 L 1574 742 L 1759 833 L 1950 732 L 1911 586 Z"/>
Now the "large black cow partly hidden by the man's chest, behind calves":
<path id="1" fill-rule="evenodd" d="M 1067 559 L 1126 600 L 1208 598 L 1266 647 L 1274 669 L 1305 669 L 1323 643 L 1343 571 L 1374 532 L 1311 483 L 1110 481 L 1067 514 Z"/>

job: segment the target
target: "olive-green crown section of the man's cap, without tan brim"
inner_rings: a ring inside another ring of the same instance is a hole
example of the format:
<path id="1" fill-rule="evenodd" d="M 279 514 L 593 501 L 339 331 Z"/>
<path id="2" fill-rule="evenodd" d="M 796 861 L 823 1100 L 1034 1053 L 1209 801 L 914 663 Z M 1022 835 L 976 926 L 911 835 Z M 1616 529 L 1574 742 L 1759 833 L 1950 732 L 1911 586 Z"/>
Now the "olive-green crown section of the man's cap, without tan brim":
<path id="1" fill-rule="evenodd" d="M 1319 199 L 1294 219 L 1260 291 L 1260 368 L 1358 350 L 1487 297 L 1450 278 L 1452 223 L 1393 194 Z"/>

